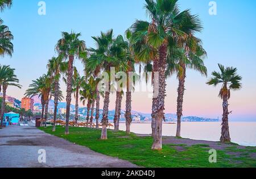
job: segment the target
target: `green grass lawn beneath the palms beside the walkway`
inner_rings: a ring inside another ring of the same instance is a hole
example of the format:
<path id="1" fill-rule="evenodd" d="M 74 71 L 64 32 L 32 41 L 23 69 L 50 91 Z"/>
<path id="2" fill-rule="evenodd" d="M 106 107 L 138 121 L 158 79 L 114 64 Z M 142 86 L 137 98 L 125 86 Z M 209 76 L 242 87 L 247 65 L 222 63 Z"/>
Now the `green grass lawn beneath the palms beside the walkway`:
<path id="1" fill-rule="evenodd" d="M 100 140 L 101 130 L 93 128 L 69 128 L 69 135 L 64 135 L 64 128 L 57 127 L 56 132 L 52 128 L 40 128 L 41 130 L 64 138 L 72 143 L 84 145 L 93 151 L 118 157 L 131 163 L 145 167 L 256 167 L 255 159 L 250 157 L 255 148 L 237 149 L 231 145 L 228 149 L 217 150 L 217 163 L 209 163 L 209 145 L 197 144 L 187 146 L 185 144 L 164 144 L 162 151 L 152 151 L 151 137 L 138 137 L 135 134 L 127 135 L 123 131 L 108 130 L 108 140 Z M 182 140 L 181 140 L 182 141 Z M 179 151 L 175 146 L 183 147 Z M 239 157 L 229 155 L 228 152 L 242 152 Z"/>

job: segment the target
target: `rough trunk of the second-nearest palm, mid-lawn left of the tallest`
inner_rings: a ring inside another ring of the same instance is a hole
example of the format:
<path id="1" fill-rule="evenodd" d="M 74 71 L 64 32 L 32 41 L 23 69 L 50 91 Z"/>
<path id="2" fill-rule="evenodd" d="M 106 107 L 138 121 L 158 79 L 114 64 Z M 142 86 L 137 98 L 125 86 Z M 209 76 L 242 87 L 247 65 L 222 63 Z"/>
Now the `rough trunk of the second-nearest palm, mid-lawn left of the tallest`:
<path id="1" fill-rule="evenodd" d="M 110 89 L 110 81 L 108 85 L 108 89 L 105 91 L 105 98 L 104 98 L 104 106 L 103 106 L 103 113 L 102 113 L 102 130 L 101 130 L 101 139 L 106 140 L 108 139 L 108 134 L 107 134 L 107 127 L 109 124 L 109 119 L 108 119 L 108 114 L 109 114 L 109 92 Z"/>

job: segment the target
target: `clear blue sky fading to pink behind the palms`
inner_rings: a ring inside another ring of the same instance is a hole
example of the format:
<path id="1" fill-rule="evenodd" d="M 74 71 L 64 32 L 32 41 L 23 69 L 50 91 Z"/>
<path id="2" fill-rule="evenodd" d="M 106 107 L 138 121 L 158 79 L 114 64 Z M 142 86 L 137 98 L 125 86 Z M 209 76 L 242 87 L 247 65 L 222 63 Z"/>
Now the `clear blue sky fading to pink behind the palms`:
<path id="1" fill-rule="evenodd" d="M 10 87 L 7 95 L 21 99 L 32 80 L 47 72 L 46 64 L 56 56 L 55 45 L 62 31 L 81 32 L 87 47 L 95 47 L 92 36 L 111 28 L 114 35 L 124 35 L 136 19 L 149 20 L 144 10 L 144 0 L 45 0 L 46 15 L 39 15 L 38 0 L 14 0 L 13 7 L 0 13 L 0 18 L 9 26 L 14 35 L 13 57 L 1 57 L 0 64 L 10 65 L 23 88 Z M 204 30 L 197 34 L 203 40 L 208 53 L 205 65 L 208 77 L 188 70 L 185 82 L 183 105 L 184 116 L 221 118 L 222 101 L 218 98 L 221 86 L 214 88 L 205 84 L 218 63 L 238 68 L 243 77 L 243 88 L 232 91 L 229 109 L 232 120 L 256 119 L 256 1 L 214 1 L 217 14 L 209 14 L 209 0 L 180 0 L 181 10 L 191 9 L 203 22 Z M 76 60 L 75 66 L 82 73 L 82 65 Z M 145 85 L 145 84 L 143 84 Z M 177 79 L 167 79 L 166 113 L 176 113 Z M 65 95 L 65 85 L 61 83 Z M 75 103 L 72 100 L 72 103 Z M 115 95 L 110 98 L 110 109 L 114 109 Z M 142 113 L 151 113 L 151 98 L 148 93 L 135 92 L 132 108 Z M 80 104 L 81 105 L 81 104 Z M 103 102 L 101 102 L 101 108 Z M 122 109 L 125 109 L 123 100 Z"/>

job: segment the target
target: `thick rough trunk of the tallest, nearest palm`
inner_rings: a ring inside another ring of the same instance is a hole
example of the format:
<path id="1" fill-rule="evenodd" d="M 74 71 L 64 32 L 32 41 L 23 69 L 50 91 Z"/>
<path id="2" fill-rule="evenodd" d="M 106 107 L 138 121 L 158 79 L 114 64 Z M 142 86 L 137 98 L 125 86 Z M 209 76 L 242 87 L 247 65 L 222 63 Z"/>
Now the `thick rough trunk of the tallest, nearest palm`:
<path id="1" fill-rule="evenodd" d="M 155 132 L 154 132 L 154 142 L 152 144 L 152 149 L 160 150 L 162 149 L 162 124 L 164 120 L 164 98 L 166 96 L 166 57 L 167 57 L 167 45 L 163 44 L 159 48 L 159 95 L 158 95 L 158 105 L 157 112 L 152 116 L 155 117 Z M 155 109 L 154 109 L 155 110 Z"/>

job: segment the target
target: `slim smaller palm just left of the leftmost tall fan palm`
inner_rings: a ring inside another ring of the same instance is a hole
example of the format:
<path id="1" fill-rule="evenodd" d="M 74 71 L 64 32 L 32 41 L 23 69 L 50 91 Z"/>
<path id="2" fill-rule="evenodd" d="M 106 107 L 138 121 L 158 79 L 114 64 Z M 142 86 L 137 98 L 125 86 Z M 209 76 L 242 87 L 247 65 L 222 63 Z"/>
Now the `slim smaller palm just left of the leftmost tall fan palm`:
<path id="1" fill-rule="evenodd" d="M 53 114 L 53 127 L 52 132 L 55 132 L 56 130 L 56 119 L 57 119 L 57 106 L 58 102 L 61 101 L 60 99 L 60 76 L 61 73 L 66 72 L 68 64 L 63 62 L 63 59 L 61 56 L 59 57 L 52 57 L 51 60 L 48 61 L 48 70 L 53 75 L 53 81 L 54 81 L 54 114 Z"/>

